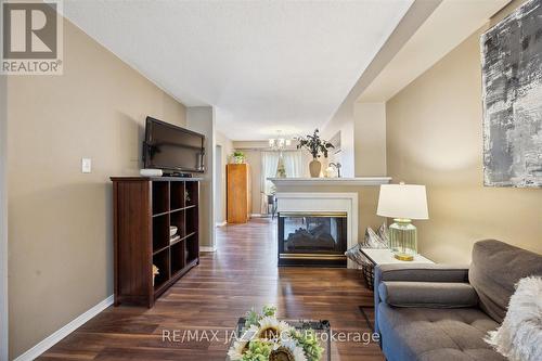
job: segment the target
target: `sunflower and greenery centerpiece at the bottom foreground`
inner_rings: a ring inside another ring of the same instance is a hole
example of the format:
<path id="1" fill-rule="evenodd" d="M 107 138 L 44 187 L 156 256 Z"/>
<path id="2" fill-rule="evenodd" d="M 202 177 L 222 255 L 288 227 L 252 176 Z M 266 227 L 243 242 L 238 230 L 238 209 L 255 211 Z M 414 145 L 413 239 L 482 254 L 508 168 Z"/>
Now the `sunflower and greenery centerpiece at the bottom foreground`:
<path id="1" fill-rule="evenodd" d="M 241 337 L 228 351 L 231 361 L 320 361 L 324 351 L 312 328 L 296 328 L 275 317 L 276 308 L 247 312 Z"/>

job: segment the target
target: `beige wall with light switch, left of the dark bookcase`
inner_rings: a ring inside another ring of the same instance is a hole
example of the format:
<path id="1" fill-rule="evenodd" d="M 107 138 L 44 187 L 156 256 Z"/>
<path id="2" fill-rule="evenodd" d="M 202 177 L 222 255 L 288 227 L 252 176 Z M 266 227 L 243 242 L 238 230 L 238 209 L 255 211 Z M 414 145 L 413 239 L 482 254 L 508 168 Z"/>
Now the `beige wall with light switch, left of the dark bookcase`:
<path id="1" fill-rule="evenodd" d="M 11 358 L 113 293 L 108 177 L 138 173 L 146 115 L 185 121 L 182 104 L 68 22 L 63 76 L 9 78 Z"/>

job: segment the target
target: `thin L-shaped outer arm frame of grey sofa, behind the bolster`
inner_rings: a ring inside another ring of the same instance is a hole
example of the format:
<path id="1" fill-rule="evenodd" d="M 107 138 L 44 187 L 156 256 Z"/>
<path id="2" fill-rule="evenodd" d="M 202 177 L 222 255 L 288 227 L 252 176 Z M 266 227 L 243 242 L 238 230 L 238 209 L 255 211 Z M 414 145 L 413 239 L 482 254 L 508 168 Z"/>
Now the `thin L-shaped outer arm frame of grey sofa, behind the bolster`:
<path id="1" fill-rule="evenodd" d="M 468 283 L 468 267 L 426 263 L 377 265 L 374 268 L 375 332 L 378 332 L 378 305 L 380 304 L 378 286 L 383 281 Z"/>

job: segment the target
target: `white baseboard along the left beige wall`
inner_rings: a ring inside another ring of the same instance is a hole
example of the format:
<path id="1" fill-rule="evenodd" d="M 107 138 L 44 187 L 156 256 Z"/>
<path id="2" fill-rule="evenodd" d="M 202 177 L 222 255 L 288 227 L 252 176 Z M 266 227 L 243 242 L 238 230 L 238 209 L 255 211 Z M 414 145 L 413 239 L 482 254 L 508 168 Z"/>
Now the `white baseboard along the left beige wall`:
<path id="1" fill-rule="evenodd" d="M 64 337 L 66 337 L 70 333 L 73 333 L 75 330 L 77 330 L 78 327 L 80 327 L 85 323 L 87 323 L 94 315 L 102 312 L 111 305 L 113 305 L 113 301 L 114 301 L 114 297 L 113 297 L 113 295 L 111 295 L 109 297 L 105 298 L 103 301 L 101 301 L 96 306 L 92 307 L 87 312 L 78 315 L 74 321 L 69 322 L 64 327 L 55 331 L 50 336 L 46 337 L 42 341 L 40 341 L 38 345 L 30 348 L 25 353 L 21 354 L 14 361 L 31 361 L 31 360 L 38 358 L 41 353 L 49 350 L 51 347 L 53 347 L 55 344 L 57 344 L 61 339 L 63 339 Z"/>

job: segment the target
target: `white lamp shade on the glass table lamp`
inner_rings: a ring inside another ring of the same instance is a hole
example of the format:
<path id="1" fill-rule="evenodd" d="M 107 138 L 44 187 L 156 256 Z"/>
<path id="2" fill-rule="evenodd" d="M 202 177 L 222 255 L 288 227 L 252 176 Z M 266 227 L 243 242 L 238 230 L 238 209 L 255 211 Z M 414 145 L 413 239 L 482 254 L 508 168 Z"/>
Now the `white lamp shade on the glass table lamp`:
<path id="1" fill-rule="evenodd" d="M 390 218 L 429 219 L 425 185 L 380 185 L 376 214 Z"/>

